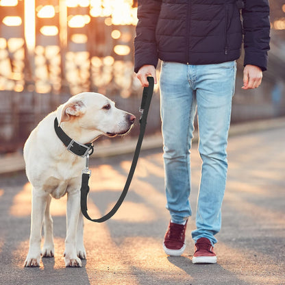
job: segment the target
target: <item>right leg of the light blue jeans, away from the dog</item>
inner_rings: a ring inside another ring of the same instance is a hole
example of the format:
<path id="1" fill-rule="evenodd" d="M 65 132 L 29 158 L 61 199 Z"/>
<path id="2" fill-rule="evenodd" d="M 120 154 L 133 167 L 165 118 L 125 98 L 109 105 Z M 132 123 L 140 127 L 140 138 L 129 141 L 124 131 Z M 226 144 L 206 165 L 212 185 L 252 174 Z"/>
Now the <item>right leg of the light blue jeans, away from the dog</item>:
<path id="1" fill-rule="evenodd" d="M 197 66 L 197 112 L 199 153 L 202 159 L 195 242 L 214 235 L 221 229 L 221 204 L 227 176 L 227 135 L 230 127 L 236 63 Z"/>

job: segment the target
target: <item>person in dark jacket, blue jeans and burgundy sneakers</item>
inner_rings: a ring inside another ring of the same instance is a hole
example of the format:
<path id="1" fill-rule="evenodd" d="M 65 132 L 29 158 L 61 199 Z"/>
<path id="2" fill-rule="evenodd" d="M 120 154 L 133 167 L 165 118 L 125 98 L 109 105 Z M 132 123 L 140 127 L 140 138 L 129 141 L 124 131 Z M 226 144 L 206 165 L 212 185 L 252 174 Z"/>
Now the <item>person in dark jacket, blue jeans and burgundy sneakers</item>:
<path id="1" fill-rule="evenodd" d="M 241 11 L 241 12 L 240 12 Z M 202 160 L 193 263 L 215 263 L 215 235 L 227 176 L 227 136 L 242 41 L 243 89 L 258 88 L 269 51 L 267 0 L 138 0 L 134 71 L 142 86 L 155 83 L 158 59 L 166 208 L 171 221 L 163 248 L 180 256 L 186 247 L 190 149 L 198 114 Z"/>

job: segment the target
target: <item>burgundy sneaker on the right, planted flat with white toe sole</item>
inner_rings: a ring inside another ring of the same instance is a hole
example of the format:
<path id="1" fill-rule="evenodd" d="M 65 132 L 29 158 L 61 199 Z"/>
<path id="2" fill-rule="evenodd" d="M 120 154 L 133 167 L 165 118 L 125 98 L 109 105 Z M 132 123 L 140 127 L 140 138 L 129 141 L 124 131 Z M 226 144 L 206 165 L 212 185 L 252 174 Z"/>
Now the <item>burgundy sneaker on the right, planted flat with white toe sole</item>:
<path id="1" fill-rule="evenodd" d="M 195 243 L 195 253 L 192 258 L 193 263 L 216 263 L 216 253 L 208 238 L 199 238 Z"/>

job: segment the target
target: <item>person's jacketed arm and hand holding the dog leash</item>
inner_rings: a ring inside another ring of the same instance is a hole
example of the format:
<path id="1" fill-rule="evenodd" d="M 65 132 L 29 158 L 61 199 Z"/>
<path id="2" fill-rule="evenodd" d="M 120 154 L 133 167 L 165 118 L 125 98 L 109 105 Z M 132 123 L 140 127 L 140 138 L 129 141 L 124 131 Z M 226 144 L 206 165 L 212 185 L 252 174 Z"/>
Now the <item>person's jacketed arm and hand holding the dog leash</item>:
<path id="1" fill-rule="evenodd" d="M 155 78 L 158 65 L 158 47 L 156 44 L 156 24 L 160 14 L 162 0 L 138 0 L 138 24 L 134 39 L 134 71 L 143 86 L 148 85 L 147 75 Z M 148 66 L 147 68 L 145 66 Z M 151 67 L 153 66 L 153 67 Z M 145 85 L 146 84 L 146 85 Z"/>

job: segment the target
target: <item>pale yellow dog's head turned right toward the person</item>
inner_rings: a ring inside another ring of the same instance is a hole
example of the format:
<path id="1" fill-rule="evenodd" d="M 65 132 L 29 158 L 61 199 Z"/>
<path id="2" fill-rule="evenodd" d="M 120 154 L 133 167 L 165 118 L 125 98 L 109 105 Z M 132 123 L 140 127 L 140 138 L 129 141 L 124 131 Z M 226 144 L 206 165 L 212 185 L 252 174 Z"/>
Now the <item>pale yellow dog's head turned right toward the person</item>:
<path id="1" fill-rule="evenodd" d="M 116 136 L 129 132 L 136 117 L 115 107 L 113 101 L 95 92 L 83 92 L 75 95 L 57 110 L 59 125 L 80 129 L 80 132 L 92 136 Z M 82 134 L 82 135 L 84 135 Z M 88 137 L 89 137 L 88 136 Z"/>

